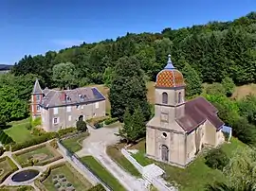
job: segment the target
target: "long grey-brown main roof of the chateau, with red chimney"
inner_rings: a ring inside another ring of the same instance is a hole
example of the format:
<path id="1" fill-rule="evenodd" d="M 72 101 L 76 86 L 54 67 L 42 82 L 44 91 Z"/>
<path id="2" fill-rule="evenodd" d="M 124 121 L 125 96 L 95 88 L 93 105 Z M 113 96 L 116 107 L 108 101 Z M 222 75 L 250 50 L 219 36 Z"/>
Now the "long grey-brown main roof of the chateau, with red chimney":
<path id="1" fill-rule="evenodd" d="M 80 105 L 105 100 L 101 92 L 94 87 L 77 88 L 74 90 L 44 90 L 45 96 L 41 106 L 53 108 L 66 105 Z"/>

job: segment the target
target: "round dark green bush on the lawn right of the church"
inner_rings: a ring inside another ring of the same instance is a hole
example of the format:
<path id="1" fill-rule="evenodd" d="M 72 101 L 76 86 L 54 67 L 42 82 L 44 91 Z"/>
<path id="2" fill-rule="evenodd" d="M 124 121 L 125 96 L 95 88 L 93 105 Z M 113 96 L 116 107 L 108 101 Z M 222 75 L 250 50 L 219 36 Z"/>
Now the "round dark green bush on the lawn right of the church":
<path id="1" fill-rule="evenodd" d="M 205 156 L 206 165 L 213 169 L 223 170 L 228 165 L 229 158 L 227 154 L 220 148 L 212 148 Z"/>

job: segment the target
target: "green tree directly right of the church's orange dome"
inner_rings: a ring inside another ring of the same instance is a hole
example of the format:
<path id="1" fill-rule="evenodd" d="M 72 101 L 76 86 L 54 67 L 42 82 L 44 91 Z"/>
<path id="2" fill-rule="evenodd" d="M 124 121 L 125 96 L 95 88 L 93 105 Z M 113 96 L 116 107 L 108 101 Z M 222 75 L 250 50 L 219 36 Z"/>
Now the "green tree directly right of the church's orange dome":
<path id="1" fill-rule="evenodd" d="M 186 82 L 186 96 L 192 97 L 202 93 L 202 79 L 187 61 L 181 61 L 184 65 L 182 74 Z"/>

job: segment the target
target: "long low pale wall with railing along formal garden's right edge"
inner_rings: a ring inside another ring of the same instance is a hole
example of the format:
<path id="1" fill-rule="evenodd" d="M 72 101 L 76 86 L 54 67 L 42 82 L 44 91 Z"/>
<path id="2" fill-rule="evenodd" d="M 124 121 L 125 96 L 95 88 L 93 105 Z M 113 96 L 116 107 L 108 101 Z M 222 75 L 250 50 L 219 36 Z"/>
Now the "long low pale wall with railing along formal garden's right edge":
<path id="1" fill-rule="evenodd" d="M 80 168 L 88 177 L 90 177 L 93 182 L 101 183 L 107 191 L 112 191 L 113 190 L 105 182 L 103 182 L 101 180 L 101 178 L 99 176 L 97 176 L 97 174 L 94 173 L 92 169 L 90 169 L 89 166 L 87 166 L 85 164 L 82 164 L 79 157 L 75 153 L 71 153 L 69 150 L 64 148 L 64 146 L 62 145 L 62 143 L 60 141 L 58 141 L 57 143 L 58 143 L 58 146 L 59 146 L 60 150 L 64 153 L 64 155 L 71 162 L 73 162 L 78 168 Z"/>

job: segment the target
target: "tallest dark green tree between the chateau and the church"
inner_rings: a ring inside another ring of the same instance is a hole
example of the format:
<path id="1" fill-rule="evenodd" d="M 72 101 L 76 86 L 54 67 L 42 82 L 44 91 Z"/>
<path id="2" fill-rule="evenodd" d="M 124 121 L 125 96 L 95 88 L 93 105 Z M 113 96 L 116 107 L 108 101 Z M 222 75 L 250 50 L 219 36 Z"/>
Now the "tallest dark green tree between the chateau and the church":
<path id="1" fill-rule="evenodd" d="M 119 121 L 123 121 L 126 108 L 129 107 L 130 112 L 134 113 L 135 108 L 139 106 L 145 120 L 149 119 L 151 112 L 142 74 L 135 58 L 119 59 L 109 91 L 112 117 L 118 117 Z M 131 103 L 133 104 L 131 105 Z"/>

